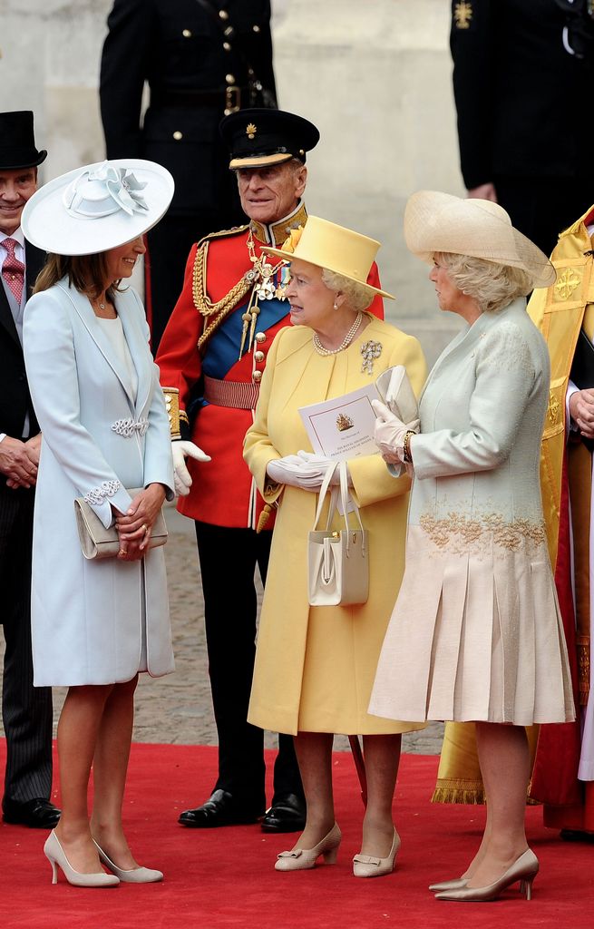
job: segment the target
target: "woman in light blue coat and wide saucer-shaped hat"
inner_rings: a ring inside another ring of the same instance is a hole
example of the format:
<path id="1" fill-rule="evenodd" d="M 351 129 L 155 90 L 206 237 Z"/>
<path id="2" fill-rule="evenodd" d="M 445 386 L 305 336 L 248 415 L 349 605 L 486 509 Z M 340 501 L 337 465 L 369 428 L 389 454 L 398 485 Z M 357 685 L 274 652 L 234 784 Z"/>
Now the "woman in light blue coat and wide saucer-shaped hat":
<path id="1" fill-rule="evenodd" d="M 137 865 L 122 803 L 138 673 L 174 670 L 163 551 L 150 547 L 174 475 L 144 309 L 122 281 L 172 193 L 160 166 L 112 162 L 58 177 L 23 213 L 27 238 L 50 253 L 27 307 L 23 343 L 43 435 L 33 531 L 34 683 L 69 687 L 58 724 L 63 809 L 45 843 L 54 883 L 58 865 L 80 886 L 162 878 Z M 134 498 L 131 488 L 141 489 Z M 104 527 L 115 525 L 117 557 L 85 560 L 77 497 Z"/>

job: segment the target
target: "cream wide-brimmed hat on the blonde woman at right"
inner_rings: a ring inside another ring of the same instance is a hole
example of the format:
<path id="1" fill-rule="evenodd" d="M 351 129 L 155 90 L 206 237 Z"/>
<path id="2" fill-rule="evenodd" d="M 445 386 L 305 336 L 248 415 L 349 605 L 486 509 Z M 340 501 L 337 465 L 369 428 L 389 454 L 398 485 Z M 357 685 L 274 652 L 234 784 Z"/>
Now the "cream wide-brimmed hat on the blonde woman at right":
<path id="1" fill-rule="evenodd" d="M 522 268 L 534 287 L 549 287 L 555 280 L 547 255 L 514 229 L 503 207 L 489 200 L 419 190 L 407 203 L 405 239 L 413 255 L 429 264 L 435 252 L 448 252 Z"/>

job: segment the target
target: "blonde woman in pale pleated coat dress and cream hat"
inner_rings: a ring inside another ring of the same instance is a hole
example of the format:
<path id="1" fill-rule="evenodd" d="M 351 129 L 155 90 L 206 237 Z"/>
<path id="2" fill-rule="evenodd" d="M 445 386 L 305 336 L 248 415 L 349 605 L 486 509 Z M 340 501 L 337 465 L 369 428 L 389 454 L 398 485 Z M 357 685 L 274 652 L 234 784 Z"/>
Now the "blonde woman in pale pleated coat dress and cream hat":
<path id="1" fill-rule="evenodd" d="M 466 325 L 423 389 L 419 435 L 376 404 L 382 454 L 414 481 L 369 712 L 475 723 L 483 843 L 460 878 L 432 889 L 478 901 L 520 882 L 529 897 L 538 861 L 524 831 L 524 726 L 574 715 L 538 479 L 549 354 L 521 296 L 554 270 L 496 203 L 421 191 L 405 234 L 433 263 L 439 306 Z"/>

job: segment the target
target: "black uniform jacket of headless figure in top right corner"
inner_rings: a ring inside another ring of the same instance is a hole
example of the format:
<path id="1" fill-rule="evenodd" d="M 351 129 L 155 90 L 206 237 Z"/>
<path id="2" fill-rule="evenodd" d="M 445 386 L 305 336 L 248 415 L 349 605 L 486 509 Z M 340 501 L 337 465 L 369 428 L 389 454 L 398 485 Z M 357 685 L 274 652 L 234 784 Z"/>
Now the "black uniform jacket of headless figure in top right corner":
<path id="1" fill-rule="evenodd" d="M 555 0 L 453 0 L 450 47 L 467 189 L 575 177 L 591 158 L 592 72 L 563 45 Z"/>

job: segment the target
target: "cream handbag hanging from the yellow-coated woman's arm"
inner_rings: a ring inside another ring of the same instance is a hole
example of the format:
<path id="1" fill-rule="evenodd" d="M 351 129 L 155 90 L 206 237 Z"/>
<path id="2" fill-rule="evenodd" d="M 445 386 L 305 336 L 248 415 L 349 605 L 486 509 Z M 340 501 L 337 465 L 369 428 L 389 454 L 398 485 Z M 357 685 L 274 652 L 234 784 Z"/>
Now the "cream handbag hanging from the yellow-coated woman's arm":
<path id="1" fill-rule="evenodd" d="M 344 529 L 331 530 L 338 489 L 330 493 L 328 520 L 325 530 L 317 524 L 336 467 L 340 470 L 340 492 Z M 349 526 L 349 501 L 355 507 L 357 529 Z M 359 508 L 348 488 L 346 462 L 334 463 L 320 487 L 314 528 L 309 533 L 307 548 L 309 604 L 312 607 L 339 607 L 366 603 L 369 589 L 368 532 L 363 529 Z"/>

